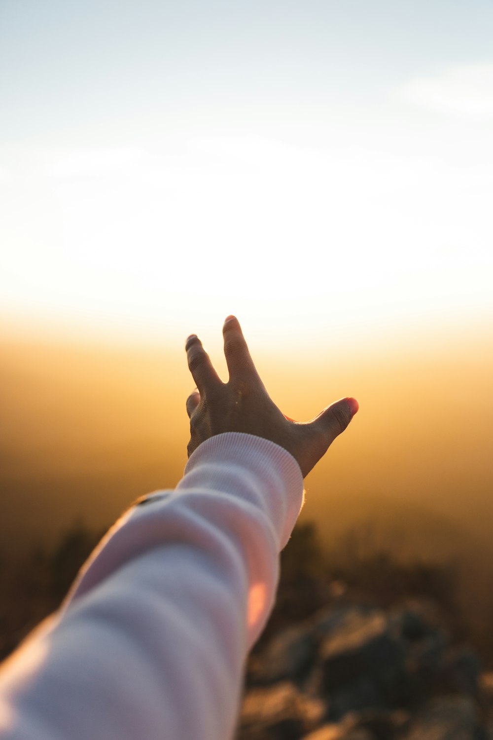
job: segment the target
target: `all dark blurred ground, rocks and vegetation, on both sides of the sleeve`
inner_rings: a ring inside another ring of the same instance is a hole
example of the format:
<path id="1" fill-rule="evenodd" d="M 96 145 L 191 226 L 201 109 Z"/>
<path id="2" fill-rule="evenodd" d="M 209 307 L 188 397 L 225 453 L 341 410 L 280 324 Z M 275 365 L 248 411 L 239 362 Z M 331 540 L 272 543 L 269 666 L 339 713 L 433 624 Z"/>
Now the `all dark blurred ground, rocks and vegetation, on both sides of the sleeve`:
<path id="1" fill-rule="evenodd" d="M 4 551 L 1 657 L 58 607 L 100 536 L 78 523 L 51 549 Z M 461 565 L 403 562 L 361 531 L 326 551 L 297 525 L 236 740 L 493 740 L 493 590 L 468 590 Z"/>

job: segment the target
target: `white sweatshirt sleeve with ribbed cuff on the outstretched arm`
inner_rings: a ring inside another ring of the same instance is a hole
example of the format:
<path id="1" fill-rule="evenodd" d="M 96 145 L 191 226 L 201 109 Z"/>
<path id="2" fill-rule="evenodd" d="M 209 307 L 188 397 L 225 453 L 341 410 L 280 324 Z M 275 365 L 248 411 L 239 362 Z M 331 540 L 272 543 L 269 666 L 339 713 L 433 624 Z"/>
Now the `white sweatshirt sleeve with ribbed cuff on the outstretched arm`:
<path id="1" fill-rule="evenodd" d="M 200 445 L 4 664 L 0 739 L 230 739 L 302 497 L 278 445 L 238 433 Z"/>

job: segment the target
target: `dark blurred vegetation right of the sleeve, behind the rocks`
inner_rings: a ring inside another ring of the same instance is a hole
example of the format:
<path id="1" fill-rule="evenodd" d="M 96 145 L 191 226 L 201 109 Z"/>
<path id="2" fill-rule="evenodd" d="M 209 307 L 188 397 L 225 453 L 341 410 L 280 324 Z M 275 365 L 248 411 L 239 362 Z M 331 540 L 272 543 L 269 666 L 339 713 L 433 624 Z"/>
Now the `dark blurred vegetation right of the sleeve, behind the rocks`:
<path id="1" fill-rule="evenodd" d="M 276 605 L 254 650 L 278 630 L 334 604 L 382 608 L 429 603 L 453 640 L 475 648 L 493 668 L 493 589 L 488 564 L 403 560 L 376 544 L 370 525 L 347 531 L 330 549 L 312 522 L 297 525 L 281 554 Z"/>

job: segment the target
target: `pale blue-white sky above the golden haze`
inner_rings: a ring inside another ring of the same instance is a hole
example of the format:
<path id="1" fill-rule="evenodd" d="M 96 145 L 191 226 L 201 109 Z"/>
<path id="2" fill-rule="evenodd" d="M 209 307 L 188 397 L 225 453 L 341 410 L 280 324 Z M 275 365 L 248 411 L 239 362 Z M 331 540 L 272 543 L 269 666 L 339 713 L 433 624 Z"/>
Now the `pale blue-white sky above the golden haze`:
<path id="1" fill-rule="evenodd" d="M 0 316 L 493 317 L 493 4 L 0 2 Z"/>

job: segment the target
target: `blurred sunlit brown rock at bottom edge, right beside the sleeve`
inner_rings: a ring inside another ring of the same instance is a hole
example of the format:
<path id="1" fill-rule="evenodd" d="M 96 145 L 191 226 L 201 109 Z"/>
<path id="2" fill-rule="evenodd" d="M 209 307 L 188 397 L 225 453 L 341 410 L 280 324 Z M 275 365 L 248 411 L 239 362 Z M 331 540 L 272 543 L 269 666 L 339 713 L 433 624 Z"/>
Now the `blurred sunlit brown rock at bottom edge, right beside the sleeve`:
<path id="1" fill-rule="evenodd" d="M 249 691 L 242 705 L 239 740 L 299 740 L 317 727 L 324 703 L 303 696 L 290 682 Z"/>

